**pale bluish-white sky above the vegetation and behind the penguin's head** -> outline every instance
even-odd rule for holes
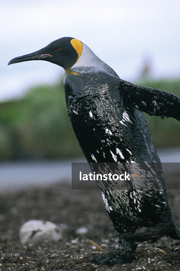
[[[7,63],[65,36],[85,43],[126,81],[137,80],[147,58],[153,77],[180,76],[179,0],[0,0],[0,31],[1,101],[63,75],[45,61]]]

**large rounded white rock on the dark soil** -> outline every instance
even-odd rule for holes
[[[42,220],[30,220],[22,225],[19,231],[22,245],[38,242],[59,241],[62,239],[61,228],[54,223]]]

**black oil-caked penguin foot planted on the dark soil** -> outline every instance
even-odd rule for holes
[[[115,251],[106,251],[93,258],[96,264],[106,264],[113,266],[116,264],[130,263],[133,259],[133,254],[137,248],[137,244],[133,241],[119,240],[120,247]]]

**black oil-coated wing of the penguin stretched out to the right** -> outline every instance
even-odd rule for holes
[[[180,121],[180,98],[173,93],[137,86],[123,80],[119,81],[119,87],[125,105],[149,115],[173,117]]]

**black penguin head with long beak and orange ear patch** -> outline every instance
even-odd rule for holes
[[[45,60],[69,70],[79,59],[82,52],[81,41],[75,38],[59,38],[34,53],[15,57],[8,65],[30,60]]]

